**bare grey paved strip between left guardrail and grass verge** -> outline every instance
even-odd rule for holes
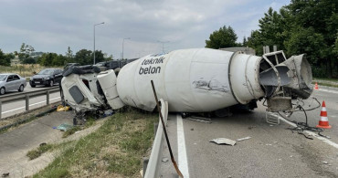
[[[53,129],[62,123],[72,124],[73,112],[52,112],[15,130],[0,134],[0,174],[26,177],[45,168],[55,156],[45,153],[35,160],[26,157],[40,143],[61,141],[63,131]]]

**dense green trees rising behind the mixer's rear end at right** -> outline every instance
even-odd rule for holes
[[[243,43],[231,26],[223,26],[206,40],[206,47],[253,47],[262,55],[263,47],[276,45],[286,56],[305,54],[314,77],[338,78],[338,1],[291,0],[290,5],[268,12],[259,19]]]

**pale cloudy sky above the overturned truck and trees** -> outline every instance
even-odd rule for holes
[[[259,28],[272,7],[290,0],[0,0],[0,49],[75,54],[95,49],[113,58],[140,58],[175,49],[205,47],[221,26],[238,42]],[[104,24],[95,26],[96,24]],[[124,39],[124,40],[123,40]],[[124,43],[123,43],[124,41]]]

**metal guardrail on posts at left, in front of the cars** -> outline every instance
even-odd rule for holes
[[[2,105],[6,102],[16,101],[16,100],[26,100],[26,110],[29,110],[29,98],[46,95],[47,104],[49,104],[49,94],[52,92],[59,91],[58,87],[53,87],[49,89],[41,89],[37,91],[28,91],[20,94],[12,94],[8,96],[0,97],[0,120],[2,119]]]

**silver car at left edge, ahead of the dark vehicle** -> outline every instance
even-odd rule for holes
[[[14,73],[0,74],[0,95],[10,90],[24,91],[26,79]]]

